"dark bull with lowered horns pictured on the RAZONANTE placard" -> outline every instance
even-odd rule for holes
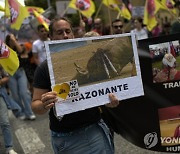
[[[87,62],[86,68],[74,63],[78,84],[87,84],[120,76],[121,70],[133,60],[130,37],[114,38],[98,48]]]

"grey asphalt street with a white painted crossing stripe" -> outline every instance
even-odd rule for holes
[[[18,154],[52,154],[48,114],[37,116],[35,121],[19,120],[9,112],[14,135],[14,149]],[[141,149],[115,134],[115,154],[162,154]],[[5,154],[5,148],[0,132],[0,154]],[[165,153],[163,153],[165,154]]]

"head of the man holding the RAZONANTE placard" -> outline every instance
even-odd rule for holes
[[[49,25],[49,36],[51,40],[73,39],[71,23],[64,17],[56,17]]]

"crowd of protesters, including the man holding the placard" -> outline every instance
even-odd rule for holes
[[[157,29],[150,33],[140,17],[133,20],[133,24],[134,27],[130,31],[136,34],[137,40],[150,36],[167,35],[171,30],[169,28],[167,32],[166,25],[164,25],[164,28],[156,27]],[[51,139],[55,154],[86,153],[87,151],[93,154],[113,154],[112,131],[109,131],[101,118],[99,107],[65,115],[61,120],[54,115],[53,106],[57,101],[57,94],[51,91],[44,41],[123,34],[127,32],[124,22],[115,19],[107,29],[103,26],[102,19],[96,18],[92,28],[87,32],[85,23],[80,21],[80,27],[73,33],[69,20],[55,18],[51,21],[49,32],[43,25],[38,25],[37,32],[39,39],[32,44],[20,44],[13,34],[8,34],[5,39],[5,43],[17,52],[20,61],[20,66],[13,76],[9,76],[2,68],[0,70],[0,119],[2,119],[0,126],[7,154],[17,154],[13,150],[8,109],[11,109],[19,120],[35,120],[35,114],[49,112]],[[113,94],[109,95],[109,100],[107,107],[119,105],[119,101]],[[83,140],[85,136],[88,137],[88,143]],[[59,148],[64,140],[68,141],[69,146]]]

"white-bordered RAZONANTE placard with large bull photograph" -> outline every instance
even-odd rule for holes
[[[70,102],[80,107],[73,110],[103,105],[109,101],[109,93],[121,99],[144,94],[133,33],[46,41],[45,47],[52,89],[77,80],[79,95]],[[63,111],[71,112],[69,108]]]

